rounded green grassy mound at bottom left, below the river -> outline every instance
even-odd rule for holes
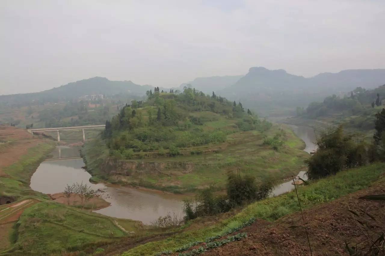
[[[126,235],[110,218],[53,202],[38,203],[26,209],[16,226],[15,245],[37,254],[73,251]]]

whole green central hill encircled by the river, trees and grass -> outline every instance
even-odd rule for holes
[[[268,137],[281,146],[266,145]],[[213,182],[223,187],[227,171],[259,181],[296,175],[308,156],[301,147],[290,130],[241,103],[185,88],[132,101],[107,122],[101,138],[86,143],[83,155],[95,179],[186,192]]]

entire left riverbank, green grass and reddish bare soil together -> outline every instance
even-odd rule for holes
[[[0,205],[0,254],[61,254],[168,232],[57,203],[32,190],[30,178],[47,156],[54,155],[54,143],[10,126],[0,126],[0,138],[0,203],[7,203]],[[55,186],[52,181],[47,184]]]

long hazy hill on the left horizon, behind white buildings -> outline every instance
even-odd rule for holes
[[[47,103],[74,100],[84,95],[102,94],[106,96],[129,94],[142,96],[152,86],[137,85],[132,81],[110,81],[104,77],[94,77],[68,83],[37,93],[23,93],[14,95],[1,95],[0,101],[6,105]]]

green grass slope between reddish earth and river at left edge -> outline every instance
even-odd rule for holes
[[[15,198],[25,195],[43,196],[43,194],[30,189],[30,178],[37,166],[53,149],[53,144],[40,143],[29,148],[27,153],[16,163],[3,168],[7,176],[0,177],[0,195],[12,195]]]

